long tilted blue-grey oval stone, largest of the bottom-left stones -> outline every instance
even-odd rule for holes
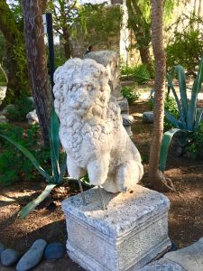
[[[47,242],[43,239],[36,240],[32,247],[23,255],[16,266],[17,271],[27,271],[37,266],[43,257]]]

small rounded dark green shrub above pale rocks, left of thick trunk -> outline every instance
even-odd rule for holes
[[[26,119],[26,115],[34,109],[34,105],[30,98],[20,98],[14,103],[14,107],[7,109],[7,117],[13,121],[22,121]]]

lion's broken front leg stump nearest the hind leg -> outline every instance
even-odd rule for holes
[[[96,160],[88,163],[88,177],[93,185],[102,185],[107,178],[110,154],[101,154]]]

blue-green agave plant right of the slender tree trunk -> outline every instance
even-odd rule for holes
[[[176,93],[176,90],[173,85],[173,76],[177,74],[180,88],[180,99]],[[160,170],[164,172],[169,146],[171,143],[171,138],[180,130],[185,130],[189,132],[195,132],[198,130],[199,123],[201,122],[201,117],[203,114],[203,107],[197,109],[198,93],[201,89],[203,82],[203,56],[199,63],[198,75],[194,80],[192,89],[191,89],[191,98],[188,101],[187,97],[187,86],[186,86],[186,76],[185,71],[182,66],[177,65],[175,67],[173,76],[167,74],[168,80],[168,92],[171,90],[173,96],[176,100],[178,109],[179,109],[179,119],[171,115],[167,110],[164,110],[165,117],[175,126],[175,129],[172,129],[162,136],[161,142],[161,153],[160,153]]]

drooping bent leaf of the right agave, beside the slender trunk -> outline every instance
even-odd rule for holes
[[[169,146],[171,144],[172,136],[175,135],[180,129],[171,129],[162,136],[161,151],[160,151],[160,170],[164,173],[166,167],[166,160],[168,157]]]

